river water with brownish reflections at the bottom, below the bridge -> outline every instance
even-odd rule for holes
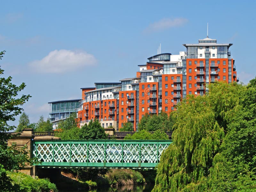
[[[89,192],[150,192],[154,184],[145,185],[124,185],[116,188],[99,188]]]

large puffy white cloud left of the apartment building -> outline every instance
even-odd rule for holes
[[[85,51],[54,50],[41,60],[33,61],[28,65],[38,73],[66,73],[96,63],[94,56]]]

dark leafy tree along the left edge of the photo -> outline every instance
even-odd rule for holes
[[[0,52],[2,59],[4,51]],[[3,75],[4,70],[0,68],[0,75]],[[6,175],[5,170],[17,170],[24,166],[24,162],[29,162],[26,149],[16,148],[15,145],[7,147],[6,139],[11,137],[11,134],[6,134],[15,126],[8,125],[8,121],[14,121],[15,117],[22,111],[22,106],[28,101],[30,95],[18,96],[19,92],[25,88],[25,83],[20,86],[12,84],[12,77],[0,78],[0,189],[2,191],[10,191],[12,186],[10,179]]]

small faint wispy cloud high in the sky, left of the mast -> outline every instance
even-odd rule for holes
[[[161,31],[172,27],[181,27],[188,22],[186,18],[164,18],[155,23],[150,24],[146,29],[145,32],[151,31]]]

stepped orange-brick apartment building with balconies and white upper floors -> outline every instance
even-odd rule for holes
[[[134,78],[82,88],[80,126],[98,119],[102,127],[113,126],[117,130],[131,122],[136,131],[146,113],[175,110],[187,95],[208,92],[206,84],[238,82],[231,45],[207,36],[198,43],[183,44],[186,50],[179,55],[162,53],[149,57],[145,65],[139,65]]]

